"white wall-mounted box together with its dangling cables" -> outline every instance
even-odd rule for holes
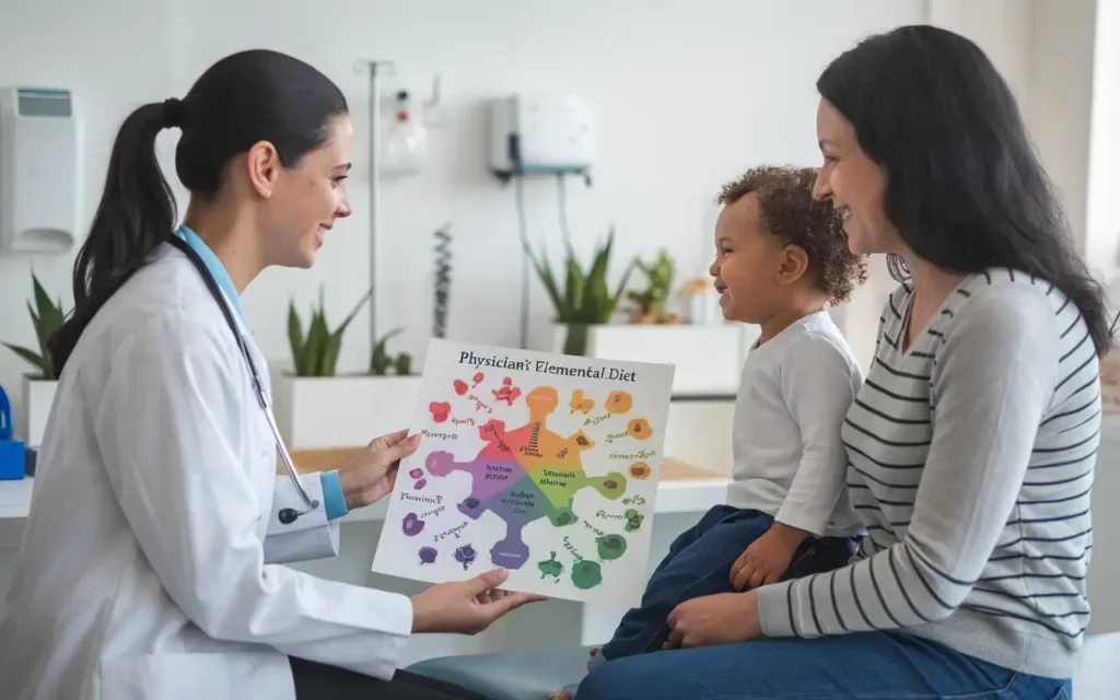
[[[529,346],[532,265],[522,179],[550,176],[557,180],[560,230],[568,231],[566,178],[577,176],[591,186],[595,124],[590,105],[575,95],[512,94],[489,102],[487,160],[502,183],[512,180],[521,237],[521,347]]]

